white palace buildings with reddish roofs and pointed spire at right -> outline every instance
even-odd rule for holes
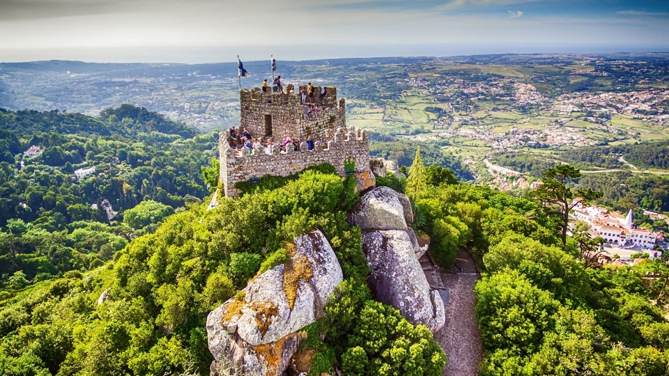
[[[607,243],[626,249],[654,249],[661,233],[648,228],[635,228],[632,210],[626,216],[596,205],[576,205],[571,217],[590,225],[592,235],[602,237]]]

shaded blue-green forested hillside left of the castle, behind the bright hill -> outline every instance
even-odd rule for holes
[[[209,194],[201,166],[216,141],[128,104],[98,118],[0,110],[0,284],[17,273],[40,281],[98,267],[175,209],[201,201]],[[24,155],[31,146],[43,152]],[[95,173],[75,178],[92,166]],[[126,212],[143,214],[126,221]]]

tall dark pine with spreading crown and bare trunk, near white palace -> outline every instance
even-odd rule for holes
[[[569,212],[578,204],[601,197],[601,192],[592,189],[571,189],[568,185],[580,178],[580,171],[569,164],[555,166],[544,172],[544,184],[530,194],[539,202],[548,217],[557,219],[562,244],[567,244]]]

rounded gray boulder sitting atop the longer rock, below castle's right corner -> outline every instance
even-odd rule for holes
[[[398,195],[388,187],[367,192],[348,213],[348,223],[362,230],[406,230],[404,207]]]

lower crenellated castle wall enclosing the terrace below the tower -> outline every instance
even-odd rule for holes
[[[314,150],[308,150],[306,143],[300,145],[300,151],[287,148],[279,152],[275,146],[268,153],[266,150],[256,151],[249,155],[247,148],[234,150],[230,148],[222,132],[219,139],[220,150],[220,182],[222,194],[237,198],[239,191],[234,188],[237,182],[259,179],[265,175],[288,176],[306,169],[309,166],[329,163],[337,169],[339,176],[346,175],[344,160],[355,160],[356,173],[369,173],[369,143],[367,132],[355,128],[341,128],[330,134],[330,141],[316,141]]]

